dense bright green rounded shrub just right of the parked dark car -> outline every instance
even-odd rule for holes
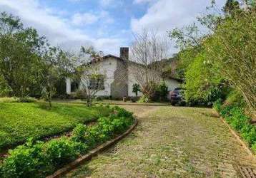
[[[207,58],[207,48],[202,47],[187,66],[183,87],[186,88],[185,99],[191,105],[212,106],[217,99],[224,99],[227,95],[225,78]]]

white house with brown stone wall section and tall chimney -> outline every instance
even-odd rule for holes
[[[134,68],[141,68],[139,63],[129,61],[129,48],[120,48],[120,56],[107,55],[97,62],[99,73],[106,76],[102,80],[102,90],[99,90],[97,96],[111,96],[112,98],[135,97],[132,92],[136,80],[136,71]],[[172,91],[174,88],[179,87],[181,81],[175,78],[162,78],[168,86],[168,90]],[[91,84],[90,84],[91,85]],[[71,95],[75,92],[76,87],[70,78],[67,78],[67,94]],[[142,93],[138,93],[139,96]]]

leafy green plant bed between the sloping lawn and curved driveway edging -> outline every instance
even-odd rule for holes
[[[70,138],[61,137],[49,142],[29,140],[9,151],[9,157],[0,164],[0,177],[46,177],[79,155],[124,132],[134,122],[132,112],[117,107],[112,111],[109,117],[100,117],[97,125],[77,125]]]

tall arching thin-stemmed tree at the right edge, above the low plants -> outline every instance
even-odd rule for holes
[[[221,75],[239,90],[256,117],[256,11],[227,17],[207,43],[212,61]]]

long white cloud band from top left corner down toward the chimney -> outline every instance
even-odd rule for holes
[[[37,0],[1,0],[0,11],[7,11],[14,16],[19,16],[24,26],[36,28],[39,34],[46,36],[52,45],[62,46],[67,50],[77,50],[80,46],[94,45],[106,53],[116,53],[118,48],[113,49],[112,46],[119,46],[123,42],[119,38],[111,38],[111,36],[103,39],[93,38],[82,28],[72,26],[69,19],[56,14],[57,9],[41,6]],[[102,12],[100,16],[103,18],[107,14]],[[87,16],[87,20],[89,18],[91,18],[90,23],[97,20],[97,17],[94,16]],[[112,46],[109,46],[109,43]]]

